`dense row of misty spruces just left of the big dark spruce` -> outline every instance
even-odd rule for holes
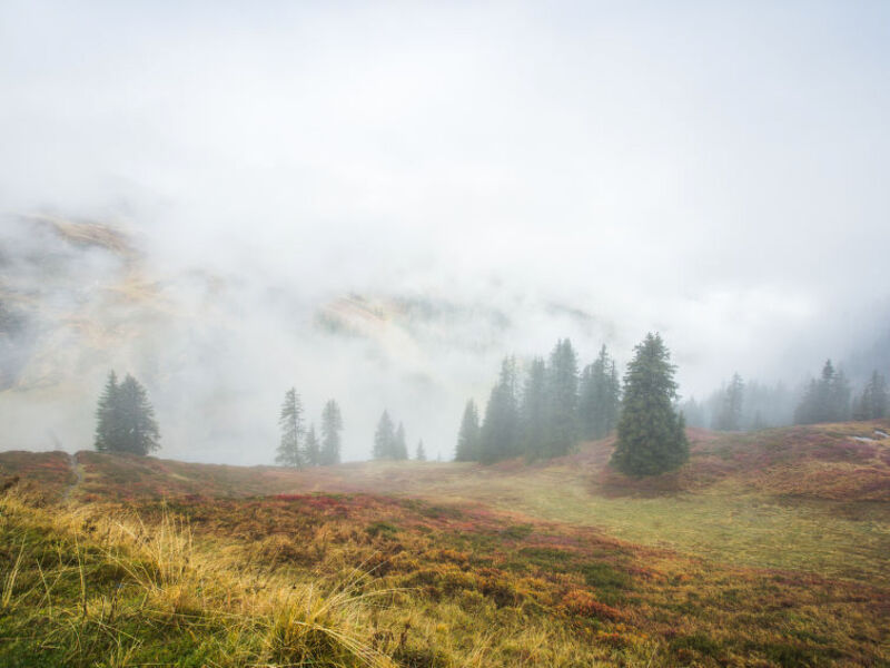
[[[471,400],[457,434],[457,461],[494,462],[566,454],[582,439],[597,439],[614,429],[621,383],[606,347],[578,374],[568,338],[560,340],[547,361],[534,357],[520,374],[516,358],[504,358],[485,415]]]

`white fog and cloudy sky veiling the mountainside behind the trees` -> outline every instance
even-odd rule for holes
[[[111,367],[145,380],[159,455],[268,463],[291,385],[316,424],[338,400],[347,460],[384,409],[449,458],[500,357],[561,336],[626,362],[657,330],[699,397],[854,356],[890,324],[889,26],[881,2],[3,2],[0,297],[38,324],[2,333],[0,449],[89,448]]]

